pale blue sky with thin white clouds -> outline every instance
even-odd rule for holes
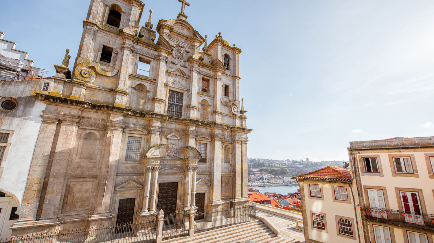
[[[34,66],[75,60],[90,0],[5,0],[0,31]],[[189,0],[202,36],[243,50],[248,157],[348,160],[349,141],[432,136],[434,1]],[[178,0],[145,0],[173,19]],[[217,3],[217,4],[216,4]]]

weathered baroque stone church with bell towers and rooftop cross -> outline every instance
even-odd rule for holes
[[[208,44],[179,1],[153,30],[141,1],[91,0],[74,67],[66,53],[35,92],[45,109],[13,235],[247,204],[241,49],[220,33]]]

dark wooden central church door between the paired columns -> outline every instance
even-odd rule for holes
[[[157,209],[161,209],[164,215],[168,216],[176,212],[176,201],[178,200],[178,182],[163,182],[158,188]]]

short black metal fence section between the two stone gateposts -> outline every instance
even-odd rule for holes
[[[163,240],[188,235],[190,214],[187,211],[164,216]]]

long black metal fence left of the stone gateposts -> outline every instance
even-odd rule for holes
[[[156,241],[156,237],[157,220],[153,218],[141,223],[96,227],[87,230],[61,230],[58,233],[12,236],[11,239],[0,240],[0,243],[151,243]]]

